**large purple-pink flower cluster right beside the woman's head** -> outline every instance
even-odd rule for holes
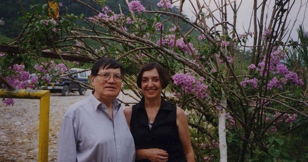
[[[196,79],[191,74],[176,74],[172,77],[175,85],[181,86],[181,88],[189,94],[196,94],[197,98],[208,98],[207,88],[208,85],[203,84],[204,78]]]

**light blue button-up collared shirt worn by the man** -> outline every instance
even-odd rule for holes
[[[74,103],[64,115],[59,132],[57,161],[132,162],[134,141],[123,106],[112,102],[113,120],[107,107],[92,93]]]

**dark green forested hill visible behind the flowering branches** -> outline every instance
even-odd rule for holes
[[[160,0],[140,0],[147,10],[156,9],[159,1]],[[89,8],[74,0],[63,0],[59,2],[62,2],[63,4],[60,12],[61,15],[66,13],[73,13],[75,15],[80,15],[83,13],[86,17],[93,15],[93,12]],[[101,7],[99,5],[95,5],[91,0],[84,0],[84,2],[91,4],[91,6],[96,6],[96,9],[101,10]],[[1,17],[4,17],[5,25],[0,26],[0,34],[9,38],[16,38],[22,31],[23,25],[25,24],[25,22],[18,19],[18,17],[23,16],[24,12],[29,12],[30,5],[34,5],[35,3],[43,4],[47,3],[47,0],[2,1],[0,3],[0,19]],[[127,14],[129,12],[125,0],[106,0],[104,5],[108,6],[115,13],[120,13],[120,7],[122,13]],[[177,13],[178,8],[172,8],[171,12]]]

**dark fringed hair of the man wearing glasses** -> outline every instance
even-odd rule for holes
[[[120,64],[117,60],[112,58],[102,58],[97,60],[91,69],[91,75],[97,76],[100,69],[108,69],[108,68],[120,68],[121,75],[124,77],[125,71],[122,64]]]

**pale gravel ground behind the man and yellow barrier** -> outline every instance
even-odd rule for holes
[[[70,93],[66,97],[61,94],[50,94],[48,161],[56,161],[58,132],[68,106],[88,97],[90,92],[88,90],[85,96]],[[132,94],[129,91],[125,93]],[[134,102],[123,94],[119,95],[119,99],[124,102]],[[14,101],[13,106],[4,105],[2,99],[0,101],[0,162],[35,162],[38,158],[40,100],[14,99]]]

